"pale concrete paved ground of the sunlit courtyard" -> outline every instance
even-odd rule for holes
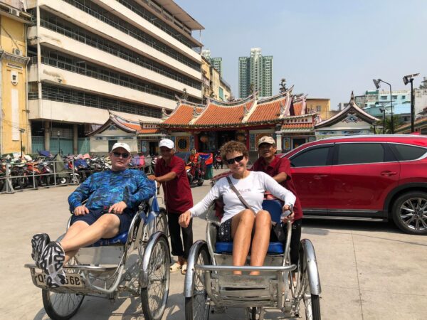
[[[68,194],[75,186],[0,195],[0,319],[48,319],[40,289],[24,263],[30,240],[47,232],[56,238],[68,220]],[[209,184],[194,188],[194,201]],[[203,239],[204,220],[194,220],[194,238]],[[305,220],[302,237],[315,245],[322,283],[323,319],[426,319],[427,237],[402,234],[387,223]],[[184,276],[172,274],[164,319],[184,319]],[[210,319],[244,319],[241,309]],[[266,319],[280,319],[271,312]],[[75,319],[143,319],[139,299],[114,304],[85,299]]]

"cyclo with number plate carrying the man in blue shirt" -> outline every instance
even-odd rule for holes
[[[145,319],[162,319],[169,294],[170,254],[166,211],[159,208],[156,195],[139,206],[127,232],[81,248],[63,266],[65,285],[51,289],[35,264],[25,265],[33,284],[42,289],[43,306],[51,319],[70,319],[86,296],[114,301],[124,292],[141,297]]]

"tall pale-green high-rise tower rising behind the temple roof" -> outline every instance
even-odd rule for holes
[[[246,98],[258,91],[261,97],[273,95],[273,56],[263,56],[261,48],[251,48],[250,57],[238,58],[238,94]]]

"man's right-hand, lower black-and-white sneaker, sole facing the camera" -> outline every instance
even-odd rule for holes
[[[65,252],[59,242],[50,242],[41,254],[40,267],[47,275],[48,287],[58,288],[65,284],[64,260]]]

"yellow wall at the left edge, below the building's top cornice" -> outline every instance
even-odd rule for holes
[[[4,50],[1,58],[1,151],[21,151],[21,134],[19,129],[25,129],[22,134],[24,151],[28,151],[28,114],[26,112],[26,26],[6,16],[0,16],[0,48]],[[22,57],[15,55],[14,49],[19,49]],[[9,53],[9,54],[8,54]],[[19,58],[16,58],[19,57]],[[12,81],[12,75],[16,78]]]

